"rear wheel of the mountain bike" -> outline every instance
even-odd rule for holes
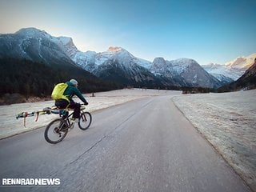
[[[56,144],[66,137],[68,132],[68,124],[62,118],[55,119],[46,126],[45,139],[46,142]]]

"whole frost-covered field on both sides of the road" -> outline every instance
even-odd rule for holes
[[[196,129],[222,154],[234,170],[256,191],[256,90],[225,94],[189,94],[171,90],[114,90],[86,94],[86,110],[92,112],[144,97],[171,95],[174,103]],[[77,100],[79,101],[79,100]],[[46,126],[56,114],[16,120],[22,111],[37,111],[54,105],[54,101],[27,102],[0,106],[0,138]]]

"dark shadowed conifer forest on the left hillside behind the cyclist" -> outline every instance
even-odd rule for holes
[[[25,97],[50,97],[55,84],[67,82],[71,78],[78,80],[82,93],[119,88],[76,66],[57,68],[26,59],[1,58],[0,74],[1,95],[18,93]]]

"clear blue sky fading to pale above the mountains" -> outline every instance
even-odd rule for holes
[[[35,27],[78,50],[224,64],[256,52],[255,0],[0,0],[0,34]]]

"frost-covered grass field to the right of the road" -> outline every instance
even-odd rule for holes
[[[256,191],[256,90],[182,95],[173,101]]]

